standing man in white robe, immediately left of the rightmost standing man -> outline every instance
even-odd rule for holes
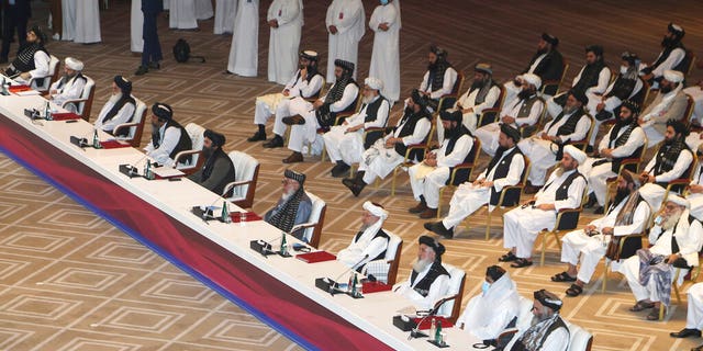
[[[359,41],[366,31],[366,13],[361,0],[333,0],[327,8],[328,33],[327,83],[334,83],[334,60],[357,64]],[[356,71],[354,72],[356,79]]]

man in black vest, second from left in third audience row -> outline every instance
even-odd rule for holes
[[[594,94],[602,94],[611,82],[611,70],[603,60],[603,47],[591,45],[585,47],[585,66],[573,78],[571,90],[583,93],[587,99]],[[568,93],[563,92],[547,101],[547,112],[550,116],[561,113],[567,102]]]

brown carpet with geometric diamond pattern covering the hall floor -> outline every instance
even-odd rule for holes
[[[367,20],[373,1],[364,1]],[[263,1],[264,15],[270,1]],[[583,61],[583,47],[602,44],[606,61],[618,65],[618,54],[637,52],[645,60],[655,58],[669,21],[687,30],[684,43],[694,50],[703,45],[703,22],[699,1],[504,1],[476,0],[401,1],[401,83],[409,92],[417,86],[426,66],[429,43],[449,50],[455,67],[471,72],[481,60],[493,65],[498,80],[522,70],[535,50],[539,33],[549,31],[561,39],[560,49],[572,63],[567,81]],[[35,19],[46,23],[47,4],[34,1]],[[213,20],[201,21],[200,31],[169,31],[160,20],[159,32],[166,59],[163,68],[133,77],[138,57],[130,53],[129,1],[110,1],[101,11],[103,42],[79,45],[52,42],[48,49],[64,58],[86,63],[85,73],[97,81],[93,117],[107,101],[109,84],[116,73],[134,79],[134,93],[150,104],[169,103],[181,124],[194,122],[227,136],[226,150],[242,150],[257,157],[261,172],[254,205],[269,208],[278,197],[280,160],[287,149],[264,149],[246,143],[254,132],[252,117],[256,95],[280,90],[266,81],[268,31],[259,31],[259,77],[223,75],[231,36],[212,34]],[[326,66],[325,3],[305,2],[305,26],[301,48],[320,52]],[[186,38],[193,55],[205,64],[176,64],[170,47]],[[372,33],[359,45],[359,73],[368,72]],[[694,71],[691,81],[703,77]],[[393,110],[392,122],[400,110]],[[269,126],[270,128],[270,126]],[[145,131],[144,143],[149,135]],[[270,134],[269,134],[270,135]],[[488,158],[482,155],[481,161]],[[369,188],[361,197],[352,196],[337,179],[328,176],[330,163],[308,158],[293,166],[308,174],[306,186],[327,202],[327,217],[321,247],[332,252],[344,248],[360,225],[361,203],[382,203],[391,216],[386,228],[404,238],[399,280],[410,273],[416,239],[425,234],[423,222],[408,214],[414,204],[408,177],[400,176],[399,191],[390,196],[390,179],[378,190]],[[449,194],[444,204],[448,204]],[[446,205],[445,205],[446,208]],[[581,224],[594,218],[585,213]],[[495,220],[496,222],[496,220]],[[495,223],[494,222],[494,223]],[[484,211],[470,217],[470,228],[454,240],[445,240],[444,260],[468,273],[465,296],[480,292],[487,265],[504,252],[501,227],[493,226],[483,240]],[[563,296],[567,287],[549,276],[560,272],[558,245],[549,242],[545,267],[509,269],[524,296],[542,287]],[[609,292],[600,292],[602,267],[583,296],[566,298],[562,315],[594,335],[593,350],[688,350],[701,340],[674,340],[669,331],[683,327],[685,298],[673,305],[661,322],[648,322],[644,315],[627,310],[634,303],[625,283],[611,275]],[[465,299],[466,301],[466,299]],[[65,194],[43,182],[9,158],[0,157],[0,350],[290,350],[298,347],[215,292],[135,242],[121,230],[96,216]]]

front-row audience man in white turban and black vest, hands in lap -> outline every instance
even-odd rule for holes
[[[561,167],[551,172],[547,184],[535,197],[503,215],[503,247],[510,251],[499,261],[514,261],[513,268],[532,265],[532,249],[539,230],[553,228],[560,210],[581,205],[585,179],[577,168],[583,161],[583,151],[572,145],[565,146]]]

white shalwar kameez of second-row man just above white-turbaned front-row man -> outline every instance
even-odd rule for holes
[[[579,110],[577,110],[576,112],[578,111]],[[561,117],[559,122],[548,124],[547,126],[545,126],[545,129],[542,131],[542,133],[546,133],[549,136],[557,136],[557,131],[559,131],[559,127],[561,127],[561,125],[563,125],[567,122],[567,120],[569,120],[569,116],[570,115],[563,115],[563,117]],[[576,128],[573,133],[568,135],[561,135],[559,136],[559,138],[562,141],[582,140],[585,138],[587,134],[589,133],[590,126],[591,126],[591,118],[588,118],[585,115],[582,115],[579,118],[579,122],[576,124]],[[520,147],[523,154],[527,156],[529,160],[532,160],[532,168],[529,169],[528,179],[529,179],[529,182],[535,186],[539,186],[545,183],[545,176],[547,174],[547,170],[557,162],[557,159],[556,159],[556,154],[558,150],[557,145],[549,140],[544,140],[539,138],[542,133],[537,133],[537,135],[527,139],[523,139],[517,144],[517,147]]]

